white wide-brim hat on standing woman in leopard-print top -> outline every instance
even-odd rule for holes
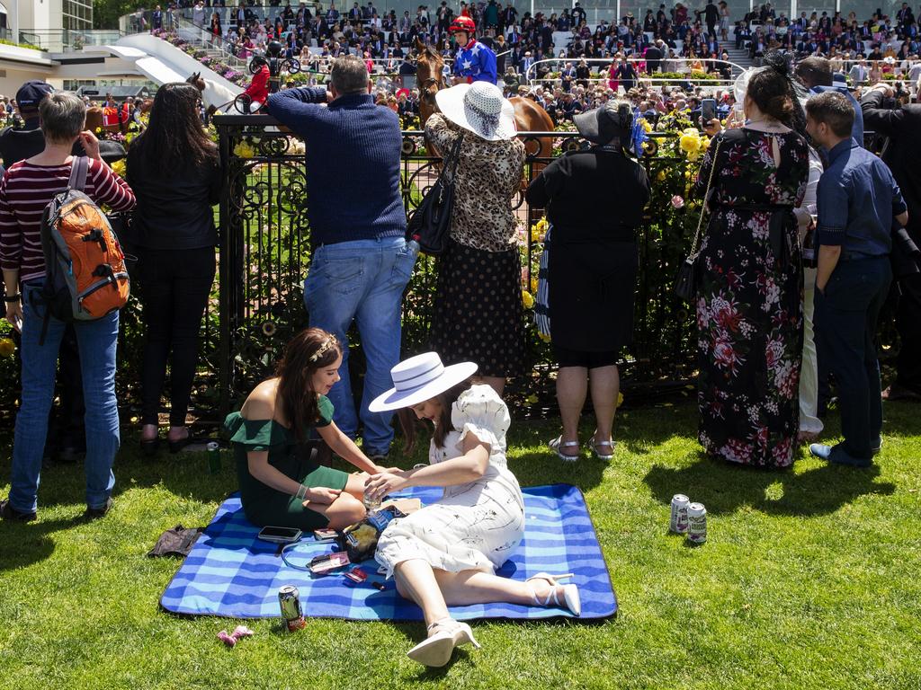
[[[435,94],[435,102],[446,118],[487,142],[518,134],[515,109],[495,84],[473,82],[443,88]]]

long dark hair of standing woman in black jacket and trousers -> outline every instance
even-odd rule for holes
[[[191,84],[160,86],[147,129],[131,144],[146,172],[166,177],[192,166],[216,164],[217,146],[199,116],[201,99],[201,91]]]

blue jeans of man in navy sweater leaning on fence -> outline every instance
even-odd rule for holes
[[[402,237],[324,245],[313,253],[304,281],[310,326],[329,331],[343,344],[341,380],[329,397],[336,426],[350,438],[356,436],[359,415],[349,381],[345,334],[353,320],[358,324],[367,360],[360,411],[366,454],[386,454],[393,440],[392,413],[371,413],[367,406],[393,385],[391,368],[400,361],[402,293],[416,254]]]

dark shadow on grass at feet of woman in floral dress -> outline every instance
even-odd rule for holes
[[[734,466],[701,451],[698,461],[690,466],[652,466],[643,481],[662,503],[683,493],[704,503],[711,514],[736,512],[748,506],[769,514],[802,517],[835,512],[859,496],[892,494],[895,485],[877,482],[879,476],[876,466],[857,469],[824,465],[800,474],[789,469]]]

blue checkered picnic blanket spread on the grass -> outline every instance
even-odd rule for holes
[[[524,580],[535,573],[575,573],[582,600],[582,620],[606,618],[617,612],[608,568],[582,492],[567,484],[522,489],[525,535],[498,575]],[[412,489],[400,494],[423,504],[437,500],[441,489]],[[397,593],[393,581],[383,591],[370,581],[383,581],[378,564],[367,560],[360,568],[368,582],[352,585],[342,571],[315,576],[286,566],[274,544],[260,541],[259,528],[250,523],[234,494],[217,509],[215,519],[192,547],[179,572],[169,582],[160,605],[167,611],[232,618],[268,618],[280,615],[278,589],[286,584],[300,591],[304,615],[356,620],[421,620],[421,609]],[[335,550],[312,535],[286,552],[296,565]],[[541,619],[571,614],[563,608],[476,604],[452,606],[459,620],[472,618]]]

